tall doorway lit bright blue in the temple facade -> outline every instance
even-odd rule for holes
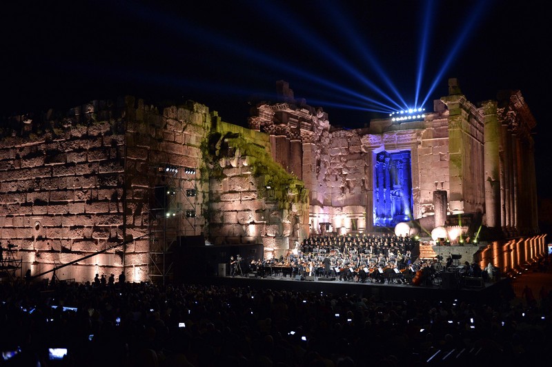
[[[375,227],[394,228],[411,219],[411,152],[378,152],[373,170],[373,218]]]

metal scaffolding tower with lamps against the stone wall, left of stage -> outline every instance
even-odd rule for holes
[[[172,250],[180,237],[199,235],[196,169],[153,166],[150,175],[148,279],[166,284],[172,279]]]

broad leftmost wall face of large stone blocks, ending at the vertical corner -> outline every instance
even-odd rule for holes
[[[124,239],[124,103],[92,102],[68,115],[14,117],[0,140],[0,238],[32,275]],[[103,119],[107,117],[107,119]],[[121,248],[57,271],[92,280],[123,264]],[[52,274],[48,275],[50,278]]]

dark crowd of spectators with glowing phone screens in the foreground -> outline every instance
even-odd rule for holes
[[[549,271],[550,268],[546,268]],[[204,284],[0,287],[0,364],[13,366],[425,366],[538,361],[552,299],[401,302]],[[66,348],[51,360],[48,348]],[[13,355],[12,357],[9,357]],[[433,356],[433,358],[432,358]]]

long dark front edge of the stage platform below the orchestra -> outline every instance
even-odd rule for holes
[[[279,275],[254,277],[250,275],[236,277],[204,277],[197,279],[202,284],[216,286],[252,287],[255,289],[288,290],[295,292],[324,292],[332,295],[358,295],[378,301],[405,301],[411,299],[440,299],[443,301],[466,300],[470,303],[482,302],[491,304],[511,295],[511,279],[502,278],[494,281],[483,279],[466,279],[455,282],[447,279],[433,279],[424,285],[360,283],[356,281],[339,281],[339,279],[315,277],[312,280],[299,280]]]

